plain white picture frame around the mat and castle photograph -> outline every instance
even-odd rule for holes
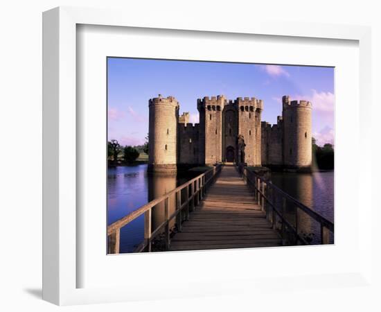
[[[360,123],[358,132],[358,148],[362,150],[361,159],[371,158],[371,136],[366,121],[371,116],[371,31],[364,26],[333,26],[308,23],[276,23],[261,21],[245,21],[226,24],[217,17],[211,21],[190,21],[188,19],[142,19],[130,12],[119,10],[99,10],[85,8],[55,8],[44,12],[43,16],[43,298],[55,304],[85,304],[100,302],[119,302],[125,300],[143,300],[146,298],[171,298],[182,296],[184,285],[173,287],[163,284],[161,291],[157,285],[144,286],[137,282],[136,287],[127,286],[96,286],[78,287],[78,232],[81,224],[78,222],[77,178],[78,178],[78,148],[76,102],[76,63],[77,25],[122,26],[134,28],[154,28],[177,31],[206,31],[209,33],[229,33],[230,35],[255,34],[283,37],[308,37],[331,40],[354,40],[359,44],[359,105]],[[358,104],[357,103],[357,104]],[[359,160],[361,160],[359,159]],[[371,163],[362,162],[362,170],[356,173],[359,180],[371,181]],[[358,184],[359,198],[366,194],[367,184]],[[321,276],[287,276],[278,275],[283,287],[296,281],[303,281],[308,288],[326,287],[326,281],[331,286],[346,286],[351,281],[356,286],[369,286],[371,280],[371,225],[366,216],[371,214],[371,198],[362,196],[362,211],[358,218],[358,244],[361,254],[356,266],[348,272],[321,272]],[[359,202],[356,205],[360,205]],[[366,239],[364,239],[366,238]],[[234,251],[227,251],[233,254]],[[267,250],[267,252],[272,252]],[[210,253],[218,257],[216,252]],[[186,253],[190,257],[190,253]],[[246,253],[250,257],[249,253]],[[184,255],[184,254],[183,254]],[[122,256],[123,257],[123,256]],[[174,257],[168,254],[168,257]],[[177,256],[179,259],[180,256]],[[181,261],[186,261],[186,257]],[[141,259],[139,259],[141,260]],[[129,261],[125,258],[124,261]],[[323,275],[324,274],[324,275]],[[134,277],[136,278],[136,277]],[[266,279],[252,276],[247,279],[220,279],[209,282],[190,282],[192,287],[187,295],[215,295],[231,292],[244,292],[266,288],[276,291],[279,286],[272,286],[274,277]],[[178,289],[176,289],[178,288]]]

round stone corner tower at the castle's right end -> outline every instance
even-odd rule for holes
[[[312,104],[283,96],[283,163],[310,170],[312,164]]]

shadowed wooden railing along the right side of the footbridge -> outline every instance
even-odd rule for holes
[[[269,182],[269,180],[248,170],[244,166],[239,166],[238,171],[242,174],[249,189],[254,193],[254,200],[256,200],[261,209],[266,212],[266,218],[272,223],[273,229],[278,230],[281,234],[283,245],[310,244],[311,240],[303,236],[300,231],[300,211],[303,211],[308,218],[319,223],[320,239],[317,240],[317,242],[321,244],[330,243],[330,233],[334,233],[334,225],[330,220],[327,220],[316,211],[303,205],[299,200],[288,195],[272,184],[272,182]],[[287,220],[285,213],[287,205],[295,207],[293,223],[290,219]]]

